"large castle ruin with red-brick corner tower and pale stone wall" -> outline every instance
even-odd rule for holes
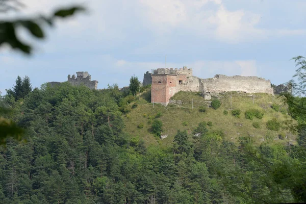
[[[192,69],[159,68],[153,74],[144,74],[143,84],[151,81],[151,103],[167,106],[169,99],[179,91],[221,93],[241,91],[245,93],[268,93],[273,95],[270,80],[216,74],[212,79],[200,79],[192,75]]]

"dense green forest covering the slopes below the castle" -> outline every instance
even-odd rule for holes
[[[188,123],[178,124],[162,145],[157,136],[167,128],[160,122],[164,113],[149,126],[148,115],[133,115],[145,103],[117,86],[89,90],[68,83],[44,85],[18,99],[10,92],[1,97],[26,140],[0,146],[1,203],[305,201],[302,145],[253,145],[248,135],[231,141],[210,130],[208,121],[187,131]],[[135,128],[145,125],[159,142],[134,134],[128,117],[142,120]]]

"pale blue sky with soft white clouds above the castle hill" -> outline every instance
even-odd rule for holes
[[[151,69],[187,66],[199,78],[215,74],[258,76],[282,84],[292,79],[293,57],[306,56],[305,0],[36,0],[1,19],[49,15],[83,5],[87,12],[44,26],[46,39],[18,35],[32,56],[0,47],[0,91],[18,75],[32,86],[67,81],[88,71],[98,88],[128,86]],[[165,65],[165,56],[167,64]]]

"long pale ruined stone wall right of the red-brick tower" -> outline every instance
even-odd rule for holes
[[[273,95],[270,80],[258,77],[242,77],[217,74],[213,79],[201,80],[205,92],[219,93],[243,91],[246,93],[269,93]]]

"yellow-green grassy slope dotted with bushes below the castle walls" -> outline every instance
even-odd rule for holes
[[[221,101],[221,106],[217,110],[209,107],[210,102],[204,100],[196,92],[179,92],[175,94],[172,99],[182,100],[181,106],[169,104],[167,107],[161,105],[154,105],[153,107],[152,104],[147,103],[144,99],[140,99],[136,102],[138,106],[124,117],[125,130],[132,136],[143,138],[147,144],[161,142],[167,145],[173,141],[177,130],[187,130],[191,135],[199,122],[211,121],[212,126],[207,126],[210,132],[221,130],[226,139],[234,142],[241,136],[252,137],[257,144],[262,142],[288,143],[288,141],[295,141],[295,135],[286,130],[285,125],[282,125],[279,131],[270,131],[266,126],[266,122],[272,118],[276,118],[282,124],[291,120],[287,114],[286,107],[281,102],[281,98],[274,96],[274,104],[280,106],[279,111],[271,108],[273,98],[269,94],[254,94],[252,96],[251,94],[232,92],[219,94],[218,98]],[[207,107],[206,112],[200,112],[200,107]],[[240,118],[232,116],[233,109],[241,110]],[[246,119],[245,111],[249,109],[263,111],[263,118]],[[224,110],[228,112],[227,115],[224,115]],[[157,115],[159,116],[158,119],[163,122],[162,135],[168,135],[164,140],[160,140],[151,133],[151,122]],[[253,127],[253,122],[258,122],[260,127],[257,129]],[[139,128],[142,125],[143,128]],[[280,138],[282,139],[278,139],[279,135],[281,135]]]

